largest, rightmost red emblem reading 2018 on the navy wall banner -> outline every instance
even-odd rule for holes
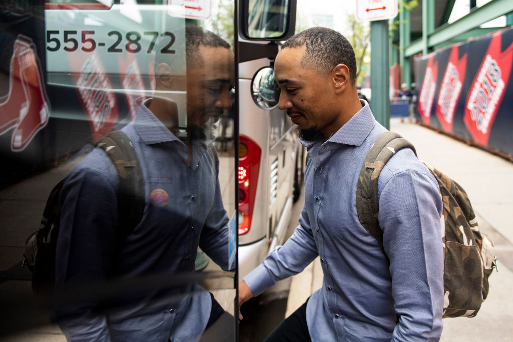
[[[494,34],[468,93],[463,122],[476,143],[486,145],[506,85],[513,44],[501,53],[502,32]]]

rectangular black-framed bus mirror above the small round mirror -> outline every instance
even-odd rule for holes
[[[294,34],[296,2],[240,0],[240,36],[249,41],[284,41]]]

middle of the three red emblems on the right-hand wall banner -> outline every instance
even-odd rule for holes
[[[458,59],[458,46],[453,46],[437,100],[437,118],[446,133],[452,132],[452,119],[465,81],[466,66],[467,54]]]

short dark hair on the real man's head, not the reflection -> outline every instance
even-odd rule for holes
[[[349,68],[349,79],[356,84],[356,58],[351,43],[337,31],[325,27],[312,27],[290,38],[283,48],[305,47],[303,66],[328,73],[339,64]]]

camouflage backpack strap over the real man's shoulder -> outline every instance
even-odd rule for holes
[[[362,226],[378,240],[383,249],[383,231],[378,222],[378,177],[386,162],[402,148],[410,148],[417,155],[415,147],[396,132],[384,132],[371,146],[360,170],[356,191],[356,208]]]

